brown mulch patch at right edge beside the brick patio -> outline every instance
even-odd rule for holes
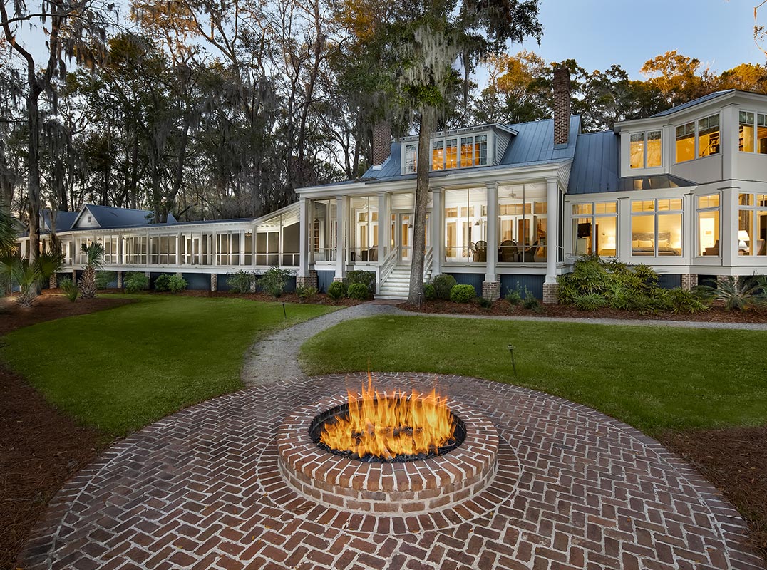
[[[709,479],[749,524],[767,558],[767,427],[662,433],[659,440]]]

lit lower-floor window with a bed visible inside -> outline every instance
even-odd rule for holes
[[[682,255],[682,199],[631,202],[631,255]]]

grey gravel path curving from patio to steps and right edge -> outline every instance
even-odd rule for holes
[[[447,317],[447,318],[480,318],[496,321],[529,321],[529,322],[561,322],[586,323],[588,325],[624,325],[637,327],[673,327],[673,328],[709,328],[721,330],[767,331],[765,323],[717,323],[700,321],[644,321],[618,318],[557,318],[557,317],[515,317],[499,315],[443,315],[432,313],[416,313],[403,311],[395,305],[371,301],[347,307],[304,321],[300,325],[285,328],[271,337],[253,344],[245,354],[245,363],[240,377],[247,387],[268,384],[269,382],[303,377],[304,373],[298,365],[298,352],[301,344],[344,321],[354,318],[374,317],[376,315],[400,315],[407,317]]]

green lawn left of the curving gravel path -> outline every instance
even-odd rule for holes
[[[107,311],[21,328],[0,357],[76,420],[120,437],[189,404],[238,390],[258,338],[330,308],[237,298],[135,295]]]

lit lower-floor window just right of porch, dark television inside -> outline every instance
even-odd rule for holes
[[[572,211],[574,255],[616,255],[617,203],[574,204]]]

